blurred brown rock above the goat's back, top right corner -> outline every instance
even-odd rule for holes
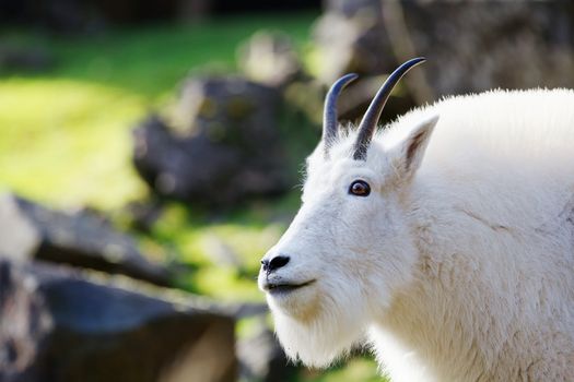
[[[436,97],[574,87],[570,1],[406,1],[402,12],[417,53],[429,58],[424,72]]]

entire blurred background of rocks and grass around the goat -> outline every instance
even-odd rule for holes
[[[383,121],[574,86],[570,1],[0,0],[0,381],[380,381],[286,361],[257,289],[323,97]]]

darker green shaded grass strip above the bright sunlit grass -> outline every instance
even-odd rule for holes
[[[256,31],[285,32],[303,48],[316,16],[227,16],[199,24],[139,26],[68,38],[5,31],[2,37],[4,44],[39,46],[54,52],[57,67],[49,73],[51,79],[97,82],[155,98],[171,92],[190,70],[234,70],[239,43]]]

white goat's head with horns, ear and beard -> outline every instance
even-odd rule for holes
[[[336,109],[356,75],[341,77],[327,94],[323,139],[307,158],[303,205],[259,273],[292,359],[329,365],[413,277],[418,251],[405,203],[437,117],[400,139],[373,135],[393,87],[423,61],[410,60],[388,77],[358,129],[339,131]]]

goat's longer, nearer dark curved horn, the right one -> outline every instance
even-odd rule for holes
[[[359,135],[356,136],[356,142],[354,145],[354,154],[353,154],[354,159],[356,160],[366,159],[366,151],[368,150],[368,145],[371,144],[371,140],[373,139],[373,134],[375,133],[375,130],[378,123],[378,119],[380,118],[383,108],[385,107],[385,104],[387,103],[387,99],[390,96],[393,88],[395,88],[395,85],[399,82],[399,80],[405,74],[407,74],[409,70],[411,70],[419,63],[424,62],[425,60],[426,60],[425,58],[419,57],[419,58],[413,58],[412,60],[405,62],[403,64],[398,67],[388,76],[387,81],[385,81],[383,86],[380,86],[377,94],[371,102],[368,109],[363,116],[361,123],[359,124]]]

